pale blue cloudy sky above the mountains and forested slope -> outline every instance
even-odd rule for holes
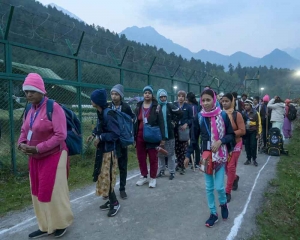
[[[300,47],[299,0],[39,0],[55,3],[88,24],[121,32],[152,26],[193,52],[201,49],[262,57]]]

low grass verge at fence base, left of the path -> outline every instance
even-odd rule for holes
[[[69,187],[74,190],[93,184],[94,148],[90,148],[83,159],[72,157],[70,164]],[[135,149],[129,147],[128,170],[138,167]],[[0,217],[10,211],[20,210],[31,205],[31,194],[28,173],[13,176],[8,172],[0,172]]]

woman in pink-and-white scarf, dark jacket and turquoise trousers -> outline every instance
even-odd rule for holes
[[[201,135],[201,151],[211,152],[212,173],[205,173],[205,186],[210,217],[206,221],[207,227],[212,227],[218,221],[215,206],[214,188],[219,195],[221,215],[223,220],[228,218],[227,199],[225,193],[225,165],[229,152],[235,145],[235,135],[226,112],[216,105],[217,98],[211,89],[202,92],[200,102],[202,110],[195,118],[192,128],[192,142]],[[190,145],[191,146],[191,145]],[[184,160],[188,165],[192,150],[189,148]]]

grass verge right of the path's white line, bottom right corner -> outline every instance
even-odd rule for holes
[[[281,156],[277,177],[269,182],[265,202],[257,216],[259,234],[251,239],[299,239],[300,236],[300,124],[288,145],[289,156]]]

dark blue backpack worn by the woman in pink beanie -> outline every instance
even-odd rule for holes
[[[49,121],[52,121],[53,105],[54,100],[48,99],[46,106],[47,117]],[[69,149],[69,156],[77,155],[82,152],[82,135],[81,135],[81,124],[76,114],[65,107],[62,104],[59,104],[65,112],[66,121],[67,121],[67,138],[65,140],[67,147]],[[31,104],[28,104],[25,109],[25,119],[27,113],[31,108]]]

